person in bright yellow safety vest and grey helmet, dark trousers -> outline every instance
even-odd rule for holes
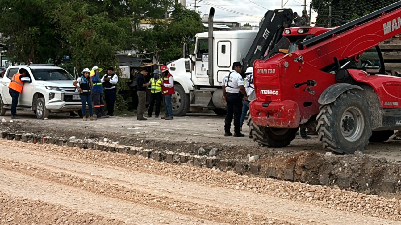
[[[160,78],[160,70],[154,70],[153,77],[150,79],[150,106],[148,110],[148,117],[152,117],[153,107],[156,102],[156,118],[160,114],[160,105],[162,104],[162,79]]]

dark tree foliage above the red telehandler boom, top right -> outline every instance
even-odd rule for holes
[[[332,7],[331,27],[365,16],[398,0],[312,0],[312,9],[318,12],[316,26],[328,27],[329,7]]]

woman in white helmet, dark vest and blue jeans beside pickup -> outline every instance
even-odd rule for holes
[[[79,77],[73,85],[78,88],[79,90],[79,97],[81,98],[82,102],[82,113],[85,114],[86,112],[86,103],[88,103],[89,108],[89,116],[90,120],[97,120],[93,117],[93,108],[92,108],[92,95],[91,89],[93,87],[92,79],[90,79],[91,71],[89,68],[85,68],[82,71],[82,76]],[[79,83],[79,86],[77,85]],[[88,120],[86,115],[83,116],[83,120]]]

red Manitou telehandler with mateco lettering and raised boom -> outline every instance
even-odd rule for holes
[[[308,29],[288,28],[284,36]],[[321,28],[327,29],[327,28]],[[387,141],[401,129],[401,78],[385,71],[379,43],[401,32],[401,1],[254,63],[248,125],[254,141],[284,147],[300,126],[337,153]]]

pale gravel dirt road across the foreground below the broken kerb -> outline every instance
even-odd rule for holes
[[[1,224],[399,224],[397,199],[0,139]]]

